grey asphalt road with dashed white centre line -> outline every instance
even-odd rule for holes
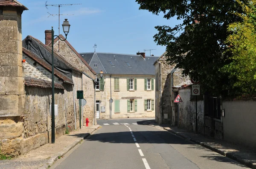
[[[246,166],[166,130],[149,119],[98,120],[102,128],[51,168],[241,169]],[[108,125],[104,125],[108,124]]]

